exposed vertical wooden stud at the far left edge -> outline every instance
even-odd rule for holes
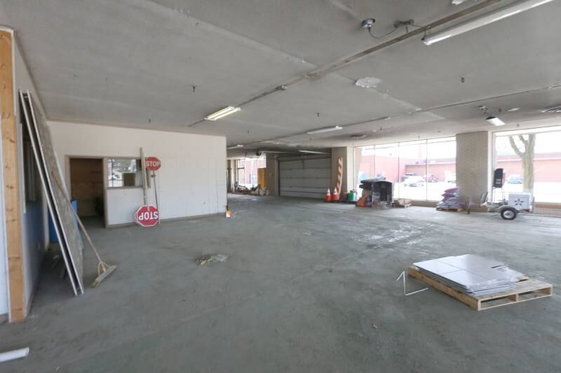
[[[0,86],[10,321],[21,321],[27,316],[27,307],[25,307],[22,258],[18,126],[15,118],[13,87],[13,32],[4,30],[0,30]]]

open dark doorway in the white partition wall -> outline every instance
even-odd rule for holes
[[[82,220],[105,226],[102,158],[70,158],[72,202]]]

